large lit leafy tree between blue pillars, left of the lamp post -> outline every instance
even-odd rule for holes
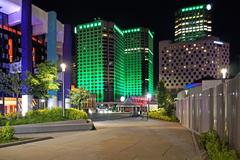
[[[49,91],[57,91],[59,83],[57,82],[57,66],[51,62],[44,62],[37,66],[38,72],[28,73],[26,83],[29,87],[29,94],[39,99],[50,97]],[[39,104],[39,103],[38,103]]]

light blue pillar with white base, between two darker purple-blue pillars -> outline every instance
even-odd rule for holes
[[[47,60],[57,64],[57,14],[54,11],[48,12],[48,34],[47,34]],[[48,108],[57,106],[57,93],[49,91]]]

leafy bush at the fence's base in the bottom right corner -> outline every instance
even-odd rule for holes
[[[200,142],[207,150],[211,160],[236,160],[237,154],[230,150],[225,141],[221,141],[217,132],[212,130],[200,135]]]

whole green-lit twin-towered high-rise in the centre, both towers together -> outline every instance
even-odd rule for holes
[[[122,31],[103,20],[77,25],[74,53],[73,83],[97,102],[153,92],[153,34],[147,28]]]

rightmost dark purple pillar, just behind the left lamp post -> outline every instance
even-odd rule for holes
[[[71,89],[71,62],[72,62],[72,26],[64,25],[64,42],[63,42],[63,59],[66,64],[64,73],[64,93],[65,93],[65,108],[70,108],[69,91]]]

